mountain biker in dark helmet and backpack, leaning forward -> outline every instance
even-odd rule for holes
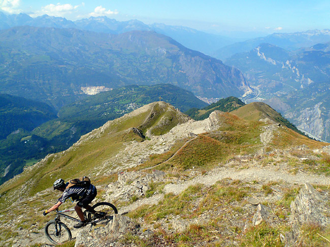
[[[75,228],[80,228],[86,225],[86,220],[81,208],[88,210],[89,212],[95,214],[95,210],[89,205],[89,203],[95,198],[97,191],[94,185],[90,184],[88,187],[83,187],[81,185],[74,185],[67,188],[68,183],[65,183],[63,179],[57,179],[54,184],[54,190],[62,191],[63,194],[53,207],[46,210],[43,215],[46,216],[49,212],[57,210],[59,206],[65,202],[69,197],[72,197],[73,200],[78,200],[78,203],[75,206],[76,213],[80,218],[80,222],[74,225]]]

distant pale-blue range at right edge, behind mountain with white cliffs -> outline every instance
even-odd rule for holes
[[[294,33],[273,33],[266,37],[259,37],[238,42],[233,45],[225,46],[216,51],[213,56],[225,60],[236,53],[248,52],[262,43],[269,43],[288,51],[300,49],[302,47],[310,47],[317,43],[325,43],[330,41],[330,30],[308,30],[305,32]]]

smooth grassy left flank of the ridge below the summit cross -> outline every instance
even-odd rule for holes
[[[7,182],[3,184],[0,193],[13,191],[31,180],[33,182],[31,182],[31,186],[27,188],[25,193],[32,196],[51,187],[55,178],[70,179],[89,174],[91,170],[99,167],[110,157],[115,156],[125,147],[124,143],[133,140],[144,141],[143,137],[130,128],[135,127],[147,131],[148,129],[157,129],[156,127],[159,125],[169,131],[173,128],[171,127],[173,121],[168,122],[168,116],[173,115],[172,112],[176,112],[173,106],[164,102],[156,102],[146,105],[139,111],[109,121],[104,127],[83,136],[80,142],[70,149],[51,154],[33,169],[27,169],[15,178],[14,183]],[[177,123],[182,121],[182,119],[176,120]],[[169,128],[166,128],[167,124],[170,124]],[[164,131],[161,133],[164,133]],[[154,132],[153,135],[155,134]],[[113,164],[113,166],[118,165]],[[108,165],[107,169],[111,169],[111,166]]]

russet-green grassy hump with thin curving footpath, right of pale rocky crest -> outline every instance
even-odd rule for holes
[[[218,133],[205,133],[185,145],[169,163],[180,170],[188,168],[212,169],[233,154],[253,152],[260,145],[259,121],[247,121],[230,113],[217,113],[222,127]]]

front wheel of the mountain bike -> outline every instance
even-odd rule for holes
[[[45,234],[54,244],[61,244],[72,238],[72,234],[68,226],[62,222],[56,223],[54,220],[46,224]]]

